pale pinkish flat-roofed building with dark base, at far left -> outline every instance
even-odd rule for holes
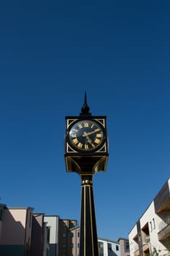
[[[33,208],[0,205],[0,255],[30,255],[32,219]]]

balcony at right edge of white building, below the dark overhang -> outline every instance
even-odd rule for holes
[[[170,237],[170,216],[167,216],[163,219],[163,221],[159,224],[159,233],[158,239],[159,241],[166,240],[166,238]]]

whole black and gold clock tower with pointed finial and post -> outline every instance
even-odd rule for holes
[[[84,105],[80,116],[66,116],[66,171],[82,181],[80,256],[98,256],[98,237],[93,200],[93,175],[105,171],[108,159],[106,116],[92,116]]]

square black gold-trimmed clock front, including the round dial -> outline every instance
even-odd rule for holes
[[[106,117],[66,117],[66,153],[107,153]]]

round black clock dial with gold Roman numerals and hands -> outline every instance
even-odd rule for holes
[[[69,131],[69,143],[77,151],[93,152],[104,143],[104,132],[96,121],[77,121]]]

